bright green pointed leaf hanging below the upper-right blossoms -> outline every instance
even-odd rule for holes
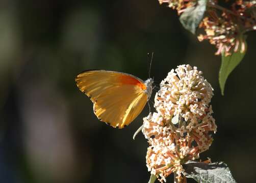
[[[239,49],[241,48],[241,43],[245,43],[245,51],[241,53],[240,51],[233,52],[229,56],[225,56],[224,52],[222,52],[221,56],[221,66],[220,66],[220,71],[219,71],[219,84],[220,84],[220,89],[221,89],[221,94],[224,95],[224,88],[225,88],[225,83],[228,75],[237,67],[237,65],[241,62],[243,59],[247,45],[243,37],[240,39],[240,46]]]

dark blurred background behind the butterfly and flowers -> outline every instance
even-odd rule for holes
[[[148,108],[125,129],[111,128],[97,120],[74,77],[105,69],[147,79],[152,51],[156,83],[190,64],[214,88],[218,131],[200,158],[224,161],[238,182],[255,182],[255,36],[248,34],[223,97],[214,46],[199,43],[157,0],[2,0],[0,182],[147,182],[147,141],[132,136]]]

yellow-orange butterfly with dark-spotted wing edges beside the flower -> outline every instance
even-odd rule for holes
[[[76,85],[93,102],[100,121],[124,128],[142,111],[152,94],[151,78],[146,81],[131,74],[87,70],[75,77]]]

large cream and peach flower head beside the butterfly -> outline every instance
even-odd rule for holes
[[[189,65],[171,70],[155,97],[156,112],[143,118],[142,132],[149,142],[146,163],[151,174],[166,181],[175,172],[182,182],[183,164],[207,150],[217,126],[209,104],[213,88],[202,72]]]

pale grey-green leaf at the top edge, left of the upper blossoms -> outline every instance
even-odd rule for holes
[[[182,25],[193,34],[203,18],[207,2],[208,0],[198,0],[194,7],[187,8],[180,17]]]

